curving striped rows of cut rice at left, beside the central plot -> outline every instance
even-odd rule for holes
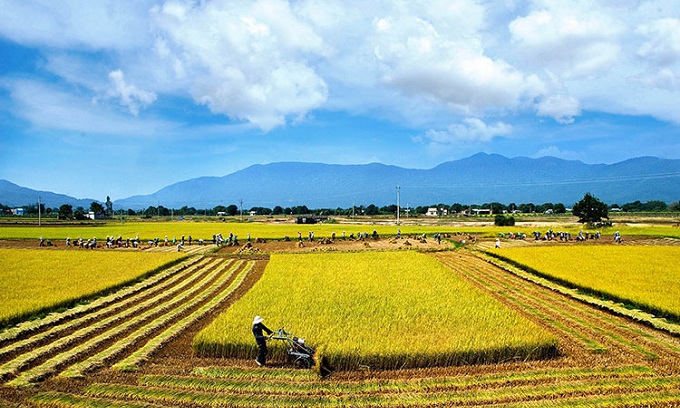
[[[135,371],[241,287],[253,261],[193,257],[89,303],[0,332],[0,381]],[[2,401],[0,401],[2,402]],[[1,404],[0,404],[1,405]]]

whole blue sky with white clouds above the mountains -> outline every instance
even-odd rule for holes
[[[676,0],[0,0],[0,178],[150,194],[279,161],[680,159]]]

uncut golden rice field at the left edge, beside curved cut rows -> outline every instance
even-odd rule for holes
[[[0,249],[0,326],[138,279],[176,252]]]

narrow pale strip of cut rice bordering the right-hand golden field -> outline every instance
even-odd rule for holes
[[[597,299],[594,296],[590,296],[584,293],[581,293],[578,289],[571,289],[568,288],[564,285],[561,285],[559,283],[556,283],[550,279],[546,279],[540,276],[537,276],[531,272],[528,272],[518,266],[513,265],[512,263],[508,262],[505,259],[499,258],[498,255],[496,254],[491,254],[488,252],[474,252],[474,254],[479,257],[480,259],[493,264],[507,272],[512,273],[513,275],[519,276],[520,278],[533,282],[535,284],[541,285],[543,287],[546,287],[550,290],[554,290],[556,292],[562,293],[564,295],[570,296],[574,299],[577,299],[581,302],[588,303],[590,305],[596,306],[600,309],[608,310],[614,314],[617,314],[619,316],[624,316],[630,319],[633,319],[637,322],[644,323],[647,326],[653,327],[658,330],[663,330],[669,334],[672,334],[673,336],[680,337],[680,325],[670,323],[668,322],[665,318],[662,317],[656,317],[651,313],[647,313],[645,311],[639,310],[639,309],[634,309],[630,310],[627,309],[623,304],[619,302],[615,302],[612,300],[601,300]]]

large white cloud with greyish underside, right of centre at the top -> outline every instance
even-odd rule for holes
[[[374,22],[382,80],[455,113],[513,109],[541,90],[540,81],[485,54],[484,8],[474,1],[411,2]]]

